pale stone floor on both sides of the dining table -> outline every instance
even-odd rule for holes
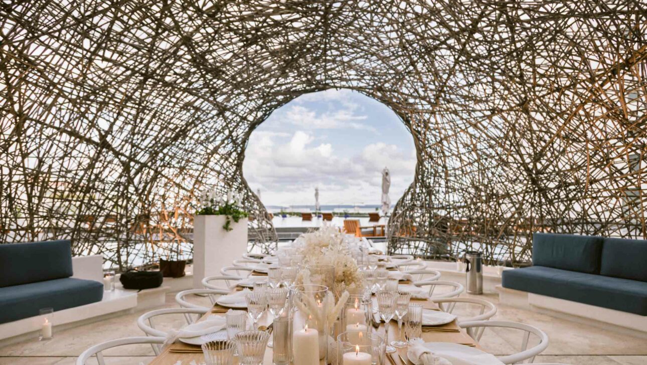
[[[465,294],[463,294],[465,296]],[[569,322],[551,316],[533,313],[499,304],[496,295],[481,296],[494,302],[498,313],[496,320],[512,320],[537,326],[549,338],[548,348],[535,362],[563,362],[573,365],[647,365],[647,340],[621,335],[598,327]],[[166,298],[165,307],[177,307],[173,294]],[[197,304],[206,305],[205,298],[195,298]],[[469,309],[456,309],[457,314],[468,315]],[[142,336],[136,320],[144,311],[118,316],[101,322],[55,331],[54,338],[47,342],[26,340],[0,348],[0,365],[73,365],[76,357],[89,346],[113,338]],[[181,315],[159,318],[155,326],[159,329],[179,327],[184,323]],[[481,339],[481,345],[490,353],[507,355],[518,351],[520,336],[514,330],[488,329]],[[146,364],[153,352],[146,345],[126,346],[105,351],[106,364]],[[94,359],[88,364],[94,364]],[[173,365],[173,364],[169,364]],[[188,365],[188,364],[183,364]]]

